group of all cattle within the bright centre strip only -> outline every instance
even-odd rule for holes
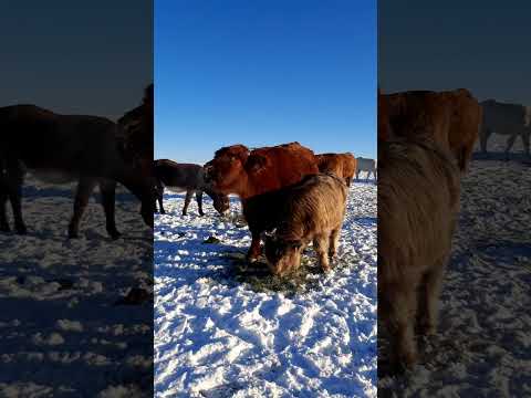
[[[374,160],[358,159],[364,170],[375,174]],[[220,213],[229,209],[228,196],[238,196],[252,237],[248,261],[259,258],[264,239],[272,273],[285,275],[300,265],[301,253],[310,242],[323,271],[330,269],[357,163],[351,153],[315,155],[299,143],[252,150],[232,145],[217,150],[202,167],[155,160],[154,177],[163,213],[165,187],[186,191],[183,214],[194,193],[200,214],[202,192],[212,198]]]

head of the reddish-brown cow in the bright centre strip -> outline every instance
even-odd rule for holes
[[[205,182],[219,193],[237,193],[246,172],[248,157],[249,149],[243,145],[232,145],[217,150],[214,159],[204,167]]]

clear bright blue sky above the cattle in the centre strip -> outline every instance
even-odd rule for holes
[[[156,0],[155,158],[299,140],[376,156],[375,0]]]

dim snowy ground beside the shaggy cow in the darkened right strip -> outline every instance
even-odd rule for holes
[[[489,149],[502,150],[506,139],[494,136]],[[378,396],[531,396],[530,192],[529,164],[472,161],[462,179],[439,333],[421,342],[424,362],[413,371],[379,380]]]

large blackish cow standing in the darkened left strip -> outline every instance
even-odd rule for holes
[[[140,201],[144,221],[153,228],[153,191],[138,165],[119,150],[117,126],[96,116],[60,115],[34,105],[0,108],[0,224],[9,230],[6,205],[11,201],[18,233],[25,233],[21,190],[25,169],[46,180],[79,180],[69,237],[77,237],[79,223],[96,184],[100,184],[107,232],[119,233],[114,221],[116,181]]]

